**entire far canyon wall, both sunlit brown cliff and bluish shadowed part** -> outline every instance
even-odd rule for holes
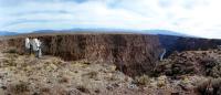
[[[30,35],[27,35],[30,36]],[[148,34],[48,34],[31,35],[42,42],[44,55],[60,56],[65,61],[90,60],[115,64],[127,75],[151,74],[162,49],[167,56],[172,52],[215,49],[221,40]],[[24,54],[24,39],[8,40],[20,54]]]

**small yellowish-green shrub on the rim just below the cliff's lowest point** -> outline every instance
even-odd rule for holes
[[[135,83],[137,85],[147,85],[147,84],[149,84],[149,82],[150,82],[149,76],[143,75],[143,76],[136,76],[133,83]]]

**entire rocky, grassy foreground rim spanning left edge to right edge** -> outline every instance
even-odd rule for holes
[[[112,64],[36,59],[0,45],[0,95],[220,95],[219,55],[219,50],[173,53],[155,75],[131,78]]]

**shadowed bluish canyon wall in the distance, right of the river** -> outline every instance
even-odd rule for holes
[[[172,52],[178,51],[198,51],[217,49],[221,45],[221,40],[215,39],[200,39],[200,38],[182,38],[172,35],[159,35],[160,44],[167,50],[166,56]]]

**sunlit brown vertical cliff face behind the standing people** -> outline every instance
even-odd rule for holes
[[[87,59],[114,63],[119,71],[135,76],[149,74],[161,48],[157,35],[143,34],[67,34],[34,36],[43,42],[43,53],[66,61]],[[24,38],[9,44],[24,53]]]

